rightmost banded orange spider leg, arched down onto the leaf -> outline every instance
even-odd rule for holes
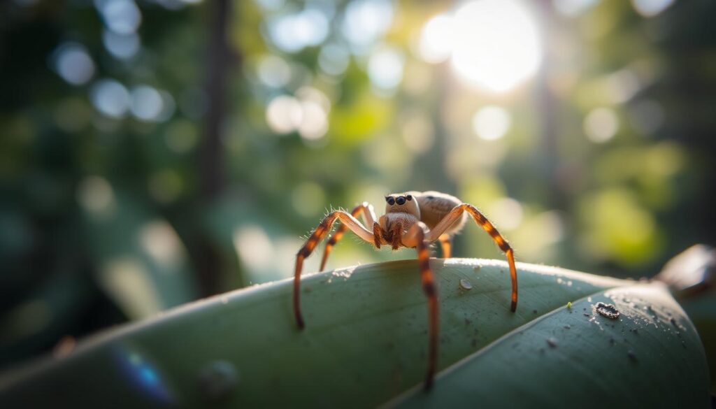
[[[510,277],[512,279],[512,303],[510,310],[515,312],[517,309],[517,269],[515,267],[515,253],[507,240],[505,240],[500,232],[497,231],[495,225],[493,225],[493,223],[490,222],[488,218],[483,215],[483,213],[480,213],[475,206],[470,203],[463,203],[455,206],[450,213],[445,215],[445,217],[442,218],[442,220],[437,223],[434,228],[432,228],[427,241],[432,243],[437,240],[445,232],[445,230],[448,229],[448,227],[452,226],[455,221],[458,221],[458,219],[463,216],[463,211],[467,211],[471,216],[473,216],[475,223],[478,223],[483,230],[487,231],[498,247],[500,247],[500,250],[504,251],[505,256],[507,256],[507,262],[510,265]]]

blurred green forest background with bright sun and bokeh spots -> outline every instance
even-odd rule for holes
[[[475,204],[519,261],[652,276],[716,244],[714,16],[710,0],[3,1],[0,367],[289,277],[327,209],[381,213],[391,192]],[[475,226],[455,247],[503,259]],[[413,256],[347,239],[328,266]]]

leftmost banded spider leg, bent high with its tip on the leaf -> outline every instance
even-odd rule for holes
[[[304,328],[304,319],[301,315],[301,302],[299,299],[299,287],[301,285],[301,269],[304,266],[304,259],[313,253],[316,249],[316,245],[319,244],[321,239],[331,230],[333,222],[339,219],[344,226],[348,226],[353,233],[359,236],[364,241],[373,244],[373,234],[367,228],[365,228],[356,218],[351,216],[342,210],[332,211],[328,216],[319,223],[316,230],[313,231],[306,244],[296,254],[296,270],[294,272],[294,315],[296,316],[296,324],[300,329]]]

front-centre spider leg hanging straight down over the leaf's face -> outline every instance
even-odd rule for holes
[[[427,226],[422,221],[418,221],[408,229],[403,236],[406,246],[415,247],[417,251],[417,260],[420,264],[420,281],[422,282],[422,291],[427,297],[427,335],[428,335],[428,354],[427,354],[427,375],[425,375],[425,390],[430,389],[432,380],[435,377],[435,367],[437,367],[437,289],[435,288],[435,275],[430,269],[430,251],[428,245],[430,241],[425,240],[427,236]]]

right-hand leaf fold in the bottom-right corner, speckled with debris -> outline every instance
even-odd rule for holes
[[[614,304],[618,319],[594,312]],[[708,368],[695,327],[666,288],[639,285],[556,309],[442,373],[435,390],[393,404],[432,408],[706,408]]]

